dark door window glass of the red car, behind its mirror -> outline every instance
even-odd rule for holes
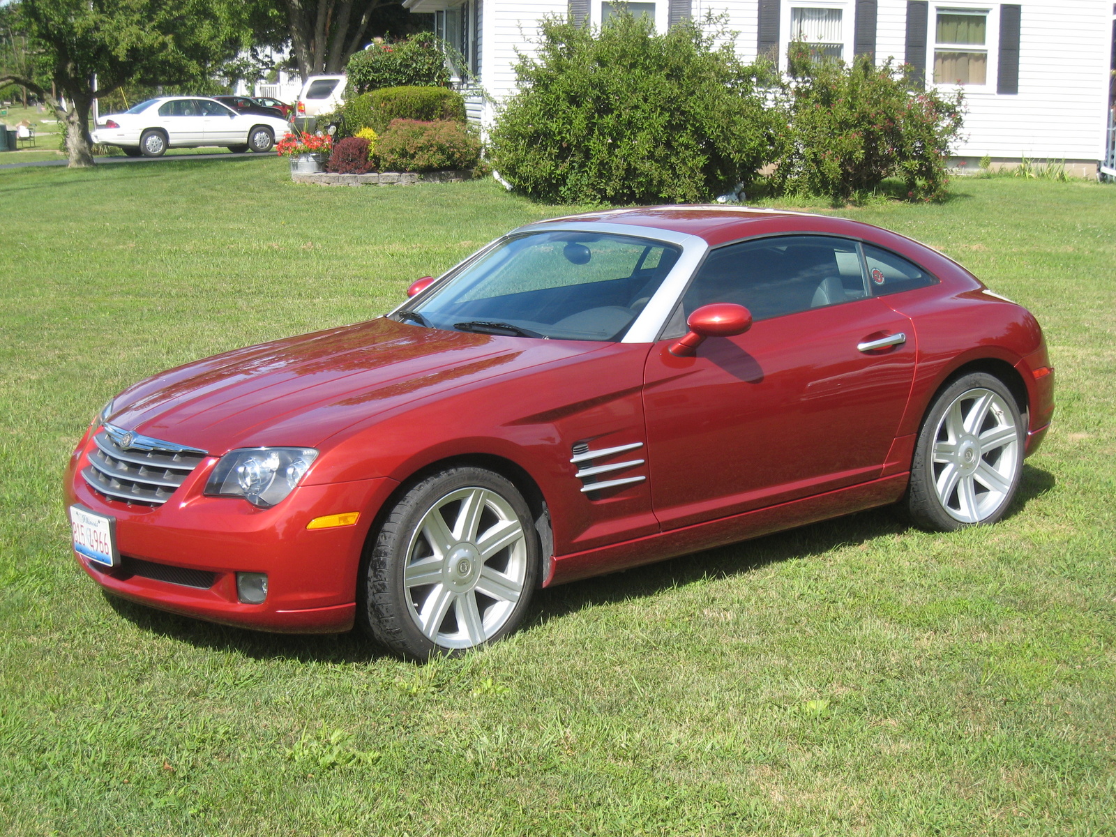
[[[735,302],[757,320],[867,296],[855,241],[783,235],[713,250],[682,299],[686,317],[711,302]]]

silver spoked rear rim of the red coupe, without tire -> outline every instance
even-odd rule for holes
[[[1019,429],[1004,400],[983,387],[961,393],[934,433],[934,492],[962,523],[988,520],[1010,497],[1019,464]]]

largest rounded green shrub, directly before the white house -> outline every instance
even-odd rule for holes
[[[626,13],[600,29],[545,20],[492,131],[492,165],[567,203],[699,201],[751,181],[776,156],[780,112],[722,36],[692,21],[657,35]]]

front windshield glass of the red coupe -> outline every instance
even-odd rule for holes
[[[628,235],[518,235],[395,316],[458,331],[618,340],[680,254],[672,244]]]

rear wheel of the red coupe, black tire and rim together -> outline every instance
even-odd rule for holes
[[[942,389],[915,442],[902,501],[911,522],[955,531],[1000,520],[1019,489],[1024,431],[1014,396],[994,375],[970,373]]]

